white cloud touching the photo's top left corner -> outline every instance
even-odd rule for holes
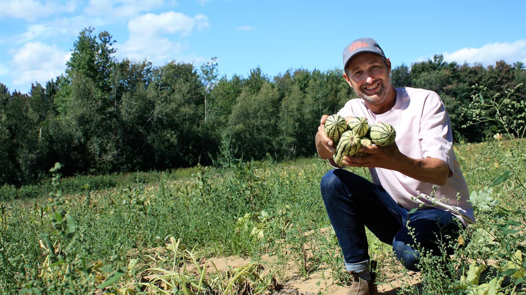
[[[75,2],[57,3],[57,1],[38,1],[38,0],[0,0],[0,19],[2,18],[22,18],[28,21],[39,17],[46,17],[53,14],[73,12]]]

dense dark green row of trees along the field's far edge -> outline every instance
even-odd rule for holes
[[[117,61],[113,44],[107,31],[86,28],[64,75],[35,83],[27,94],[0,83],[0,185],[46,177],[55,162],[74,175],[311,156],[321,115],[356,98],[342,69],[289,69],[269,77],[257,67],[248,77],[228,79],[219,77],[215,58],[200,68],[177,61],[153,66]],[[460,65],[436,55],[393,68],[391,80],[440,94],[455,139],[473,142],[491,130],[462,128],[471,86],[502,92],[526,82],[526,69],[502,60]],[[524,93],[519,88],[513,99]]]

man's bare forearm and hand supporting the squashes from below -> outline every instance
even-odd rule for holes
[[[379,167],[398,171],[416,180],[444,185],[450,174],[446,162],[437,158],[412,159],[400,152],[396,142],[390,145],[362,146],[359,150],[368,155],[345,156],[343,165],[351,167]]]

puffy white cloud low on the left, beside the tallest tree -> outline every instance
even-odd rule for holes
[[[28,87],[32,82],[45,83],[59,76],[66,69],[66,61],[70,52],[60,49],[56,45],[41,42],[24,44],[13,55],[13,84]]]

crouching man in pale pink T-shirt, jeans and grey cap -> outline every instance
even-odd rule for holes
[[[343,158],[344,165],[369,167],[372,183],[332,160],[335,145],[323,131],[327,115],[316,134],[318,154],[338,167],[323,176],[321,195],[354,279],[347,294],[372,295],[378,291],[369,271],[365,226],[392,245],[407,269],[418,270],[419,250],[440,255],[437,240],[456,238],[460,223],[474,222],[473,209],[438,94],[392,87],[391,62],[370,38],[352,41],[343,50],[343,69],[343,78],[360,98],[349,100],[338,114],[389,123],[397,133],[395,143],[363,146],[359,151],[366,156]],[[413,208],[418,210],[410,213]]]

